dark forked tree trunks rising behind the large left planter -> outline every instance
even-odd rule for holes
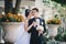
[[[18,14],[21,0],[16,0],[15,8],[13,8],[13,0],[4,0],[4,13]]]

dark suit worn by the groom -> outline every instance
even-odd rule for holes
[[[44,26],[44,32],[46,32],[45,29],[45,21],[41,18],[40,19],[40,25]],[[29,26],[36,20],[36,18],[33,18],[29,21]],[[29,31],[31,33],[31,41],[30,44],[42,44],[42,36],[43,34],[38,35],[38,32],[36,31],[36,28],[32,26],[31,30]]]

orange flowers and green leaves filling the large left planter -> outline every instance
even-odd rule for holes
[[[22,22],[22,21],[24,21],[23,15],[16,15],[12,13],[0,15],[0,22]]]

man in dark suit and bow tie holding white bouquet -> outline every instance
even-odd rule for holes
[[[33,13],[34,18],[29,21],[29,26],[33,22],[36,22],[36,19],[38,19],[40,20],[40,25],[42,25],[44,28],[44,31],[37,31],[36,30],[37,24],[35,23],[35,26],[32,26],[29,30],[29,33],[31,33],[30,44],[42,44],[43,33],[46,32],[45,21],[43,19],[38,18],[38,9],[37,8],[32,9],[32,13]]]

